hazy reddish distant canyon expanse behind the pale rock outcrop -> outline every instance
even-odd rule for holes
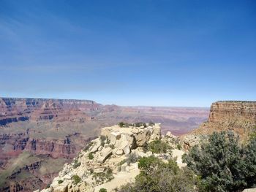
[[[207,120],[200,107],[120,107],[89,100],[0,98],[0,191],[45,188],[100,129],[120,121],[161,123],[187,134]],[[14,166],[14,164],[16,166]]]

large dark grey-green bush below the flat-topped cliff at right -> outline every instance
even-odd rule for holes
[[[256,139],[241,146],[233,132],[214,133],[183,161],[200,177],[200,191],[242,191],[256,184]]]

